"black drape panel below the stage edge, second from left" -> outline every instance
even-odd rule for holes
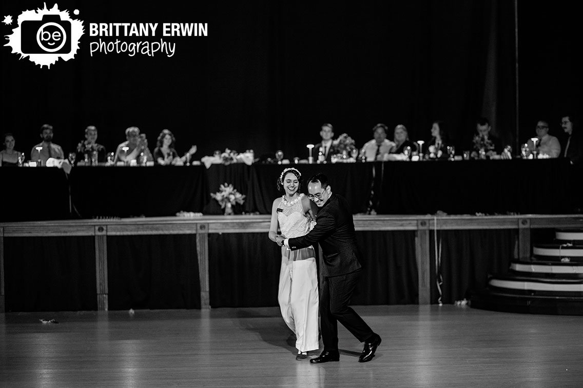
[[[201,308],[196,235],[109,236],[107,277],[110,310]]]

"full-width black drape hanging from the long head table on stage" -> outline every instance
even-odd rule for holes
[[[583,208],[581,171],[565,159],[254,164],[189,167],[0,168],[1,221],[222,214],[210,193],[232,184],[245,195],[236,214],[270,214],[283,195],[276,180],[286,167],[302,174],[301,191],[317,172],[345,196],[354,214],[370,201],[378,214],[571,214]],[[72,214],[69,213],[69,186]],[[374,195],[373,195],[374,193]]]

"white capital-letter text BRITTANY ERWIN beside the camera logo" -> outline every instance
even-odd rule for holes
[[[89,36],[156,36],[159,23],[89,23]],[[208,36],[207,23],[162,23],[162,36]]]

